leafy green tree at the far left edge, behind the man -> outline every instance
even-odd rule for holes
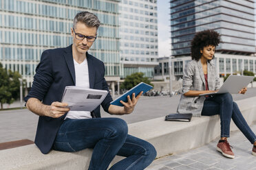
[[[3,104],[12,104],[15,99],[19,99],[19,79],[21,75],[15,71],[6,71],[0,63],[0,103],[1,110]]]

